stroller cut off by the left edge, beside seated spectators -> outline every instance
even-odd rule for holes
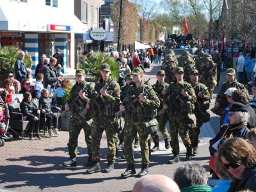
[[[8,133],[8,127],[10,122],[9,109],[4,101],[0,101],[0,107],[3,108],[3,115],[0,122],[0,147],[4,146],[5,141],[13,141],[12,134]]]

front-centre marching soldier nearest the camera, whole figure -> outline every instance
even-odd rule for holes
[[[141,172],[138,177],[148,174],[149,150],[148,140],[151,130],[156,130],[158,122],[156,120],[157,108],[160,100],[156,92],[142,81],[143,70],[134,68],[132,71],[132,84],[129,87],[127,95],[120,105],[120,111],[124,113],[124,118],[127,120],[127,127],[124,132],[124,155],[127,162],[127,169],[122,173],[122,178],[135,175],[134,156],[132,142],[137,134],[140,136],[141,148]],[[129,107],[129,105],[131,107]]]

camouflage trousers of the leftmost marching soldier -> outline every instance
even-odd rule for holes
[[[92,156],[91,152],[91,143],[92,143],[92,136],[91,136],[91,127],[92,127],[92,119],[85,121],[80,116],[72,116],[69,122],[69,139],[68,139],[68,153],[70,159],[77,156],[77,140],[78,136],[81,132],[81,129],[84,130],[85,142],[87,145],[88,155]]]

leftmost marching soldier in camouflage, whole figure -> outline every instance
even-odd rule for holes
[[[92,150],[91,150],[91,127],[92,119],[88,119],[81,115],[81,112],[86,105],[86,102],[90,100],[94,86],[92,84],[86,83],[84,81],[84,70],[76,70],[76,84],[72,87],[70,91],[70,99],[65,104],[65,111],[71,111],[72,117],[69,122],[69,140],[68,140],[68,154],[69,160],[63,162],[64,166],[76,166],[76,156],[77,156],[77,140],[81,132],[81,129],[84,130],[85,142],[88,149],[88,162],[86,165],[92,163]],[[82,92],[81,92],[82,91]]]

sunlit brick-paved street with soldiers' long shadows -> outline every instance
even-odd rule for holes
[[[149,77],[151,83],[156,82],[156,72],[159,65],[151,65],[145,69],[145,79]],[[225,81],[225,73],[221,74],[221,81]],[[221,83],[220,83],[221,84]],[[214,100],[216,92],[214,90]],[[219,129],[220,118],[212,115],[211,122],[204,124],[201,131],[201,141],[199,153],[193,157],[209,173],[209,140],[214,136],[214,132]],[[79,156],[77,157],[77,168],[65,168],[61,166],[63,161],[68,159],[68,132],[60,131],[61,136],[42,138],[41,141],[15,140],[6,142],[4,147],[0,147],[0,191],[131,191],[132,186],[138,177],[120,179],[120,175],[126,169],[126,163],[118,152],[118,159],[115,163],[115,170],[111,173],[86,174],[87,150],[84,142],[84,133],[79,136]],[[48,134],[47,134],[48,135]],[[160,134],[161,135],[161,134]],[[161,138],[159,152],[152,154],[150,158],[150,174],[163,174],[173,177],[173,172],[179,164],[167,164],[172,157],[171,149],[165,150],[164,141]],[[100,145],[100,166],[102,169],[108,163],[106,161],[106,136],[102,137]],[[181,160],[185,161],[186,152],[184,145],[180,143]],[[140,150],[134,152],[136,158],[136,172],[140,172]],[[210,175],[209,175],[210,176]]]

